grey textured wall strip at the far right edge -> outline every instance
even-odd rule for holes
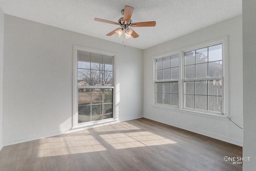
[[[243,0],[244,171],[256,170],[256,1]]]

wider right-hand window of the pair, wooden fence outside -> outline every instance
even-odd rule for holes
[[[222,113],[222,44],[184,52],[184,108]]]

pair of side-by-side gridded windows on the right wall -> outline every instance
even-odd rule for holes
[[[227,39],[167,52],[173,54],[170,56],[155,56],[154,105],[198,115],[228,114]]]

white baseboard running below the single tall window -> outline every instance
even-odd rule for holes
[[[74,129],[70,128],[70,129],[54,131],[54,132],[50,132],[50,133],[43,133],[43,134],[40,134],[40,135],[32,135],[32,136],[29,136],[29,137],[11,139],[11,140],[8,140],[8,141],[3,141],[3,146],[18,144],[18,143],[24,143],[24,142],[27,142],[27,141],[33,141],[33,140],[36,140],[36,139],[52,137],[52,136],[61,135],[61,134],[64,134],[64,133],[73,132],[73,131],[80,131],[80,130],[83,130],[83,129],[89,129],[89,128],[93,128],[93,127],[109,125],[109,124],[112,124],[112,123],[128,121],[128,120],[132,120],[132,119],[138,119],[138,118],[141,118],[141,117],[143,117],[143,115],[137,115],[137,116],[133,116],[133,117],[126,117],[126,118],[122,118],[122,119],[116,119],[114,121],[110,121],[110,122],[106,122],[106,123],[99,123],[97,125],[89,125],[89,126],[78,127],[78,128],[74,128]]]

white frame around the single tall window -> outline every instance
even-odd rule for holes
[[[89,53],[94,53],[94,54],[101,54],[101,55],[106,55],[106,56],[113,56],[113,72],[112,72],[112,87],[113,87],[113,118],[109,119],[103,119],[103,120],[98,120],[98,121],[90,121],[90,122],[84,122],[84,123],[78,123],[78,56],[77,52],[82,51],[82,52],[89,52]],[[73,100],[72,100],[72,128],[79,128],[79,127],[86,127],[86,126],[92,126],[92,125],[98,125],[98,124],[103,124],[111,121],[116,120],[116,103],[115,103],[115,56],[116,54],[113,52],[107,52],[107,51],[102,51],[102,50],[97,50],[93,48],[87,48],[87,47],[82,47],[82,46],[73,46],[73,87],[72,87],[72,94],[73,94]],[[101,86],[96,86],[96,88],[101,88]],[[108,88],[108,87],[104,87]]]

